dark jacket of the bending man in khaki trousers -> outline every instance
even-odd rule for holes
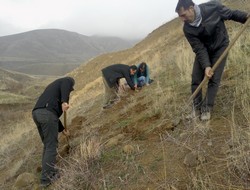
[[[132,90],[135,89],[134,82],[131,80],[130,67],[124,64],[114,64],[102,69],[102,74],[110,88],[114,87],[119,79],[125,78]]]

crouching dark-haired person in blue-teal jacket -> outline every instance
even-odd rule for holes
[[[137,71],[134,75],[134,83],[136,87],[149,85],[150,83],[149,66],[145,62],[142,62],[139,65],[137,65]]]

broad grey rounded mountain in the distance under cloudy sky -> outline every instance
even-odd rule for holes
[[[34,30],[0,37],[0,67],[29,74],[65,74],[90,58],[127,49],[135,43],[117,37],[88,37],[58,29]],[[41,72],[44,64],[57,68],[67,66],[67,69],[60,69],[63,73],[54,72],[58,69]],[[36,69],[37,65],[39,69]]]

